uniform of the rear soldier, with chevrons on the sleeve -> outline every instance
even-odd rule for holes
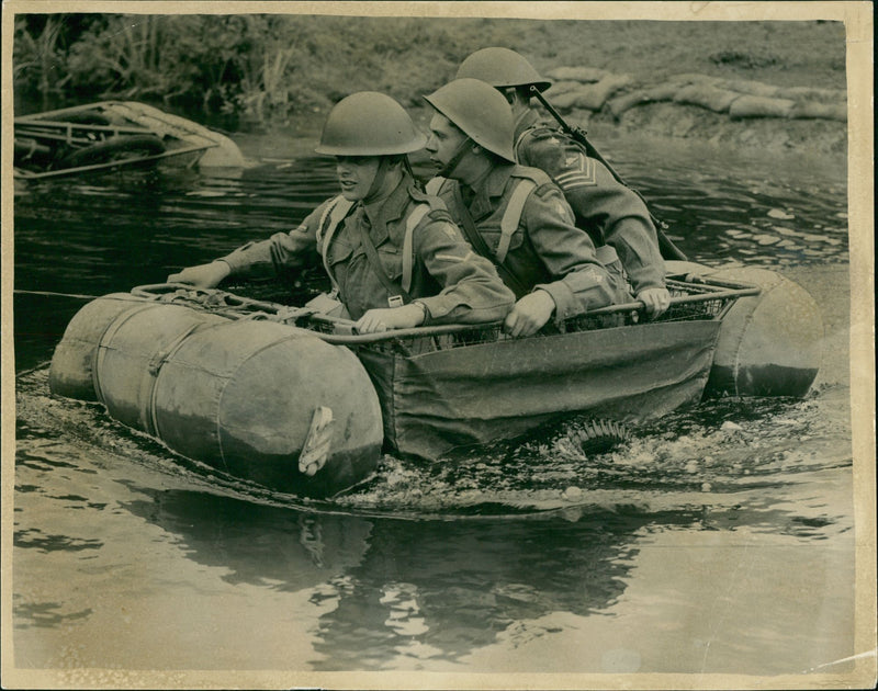
[[[563,132],[540,123],[528,110],[515,124],[515,155],[555,181],[576,215],[576,225],[597,245],[610,245],[635,293],[664,287],[664,260],[655,226],[637,193],[599,161],[588,158]]]

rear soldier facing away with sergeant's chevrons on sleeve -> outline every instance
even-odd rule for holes
[[[577,226],[588,230],[598,247],[606,243],[616,250],[646,313],[652,317],[664,313],[671,295],[646,205],[567,134],[539,121],[530,106],[530,87],[544,91],[551,82],[508,48],[476,50],[461,63],[457,78],[481,79],[503,93],[515,118],[516,160],[552,177],[576,214]]]

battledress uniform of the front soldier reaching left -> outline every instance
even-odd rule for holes
[[[352,319],[367,310],[396,306],[367,257],[360,239],[364,229],[372,240],[390,283],[402,288],[406,220],[418,205],[429,211],[412,234],[410,286],[399,294],[417,298],[426,308],[424,324],[481,324],[503,319],[514,304],[513,294],[491,262],[472,251],[441,202],[418,192],[409,177],[385,200],[357,203],[325,234],[330,215],[327,200],[290,233],[249,242],[223,257],[232,275],[272,275],[279,269],[319,262],[329,271],[339,297]]]

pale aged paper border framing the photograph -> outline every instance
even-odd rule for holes
[[[348,14],[363,16],[567,20],[844,22],[847,60],[847,190],[851,279],[851,408],[854,453],[855,654],[845,673],[786,676],[313,672],[295,670],[78,670],[90,688],[325,689],[826,689],[876,682],[876,464],[874,268],[874,13],[870,2],[128,2],[8,0],[2,22],[2,687],[70,688],[64,670],[19,669],[13,660],[12,526],[15,454],[13,362],[12,46],[15,13]],[[842,660],[835,660],[842,661]],[[123,672],[124,687],[120,686]],[[81,673],[77,675],[82,688]],[[112,679],[113,681],[109,681]]]

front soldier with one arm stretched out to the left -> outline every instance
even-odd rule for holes
[[[406,155],[425,140],[390,97],[342,99],[315,149],[336,157],[341,194],[294,230],[183,269],[168,282],[213,287],[229,275],[271,275],[323,259],[362,333],[503,319],[513,294],[491,262],[473,253],[441,201],[415,186]]]

